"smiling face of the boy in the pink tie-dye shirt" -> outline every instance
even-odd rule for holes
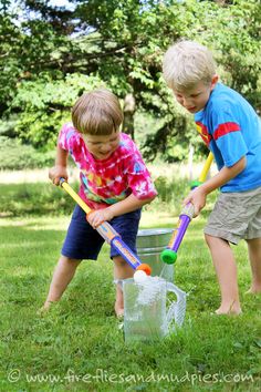
[[[96,159],[107,159],[112,153],[118,147],[119,131],[113,132],[111,135],[83,135],[81,134],[86,147]]]

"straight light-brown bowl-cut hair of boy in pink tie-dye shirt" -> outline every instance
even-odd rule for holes
[[[74,127],[82,134],[111,135],[123,122],[118,99],[106,89],[84,93],[72,109]]]

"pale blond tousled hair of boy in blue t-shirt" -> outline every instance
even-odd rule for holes
[[[163,75],[173,90],[194,87],[198,82],[210,83],[216,74],[211,52],[194,41],[178,41],[164,55]]]

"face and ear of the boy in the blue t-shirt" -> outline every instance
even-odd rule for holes
[[[174,94],[178,103],[187,109],[189,113],[201,111],[208,103],[211,91],[218,82],[218,76],[213,76],[209,84],[200,81],[191,89],[175,90]]]

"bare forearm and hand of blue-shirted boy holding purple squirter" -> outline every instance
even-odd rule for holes
[[[185,198],[184,204],[186,205],[188,203],[192,203],[195,208],[195,216],[197,216],[199,212],[205,207],[207,196],[215,189],[218,189],[220,186],[227,184],[230,179],[234,178],[244,169],[246,165],[247,159],[246,156],[243,156],[233,166],[223,166],[221,171],[212,178],[208,179],[206,183],[190,192],[188,197]]]

